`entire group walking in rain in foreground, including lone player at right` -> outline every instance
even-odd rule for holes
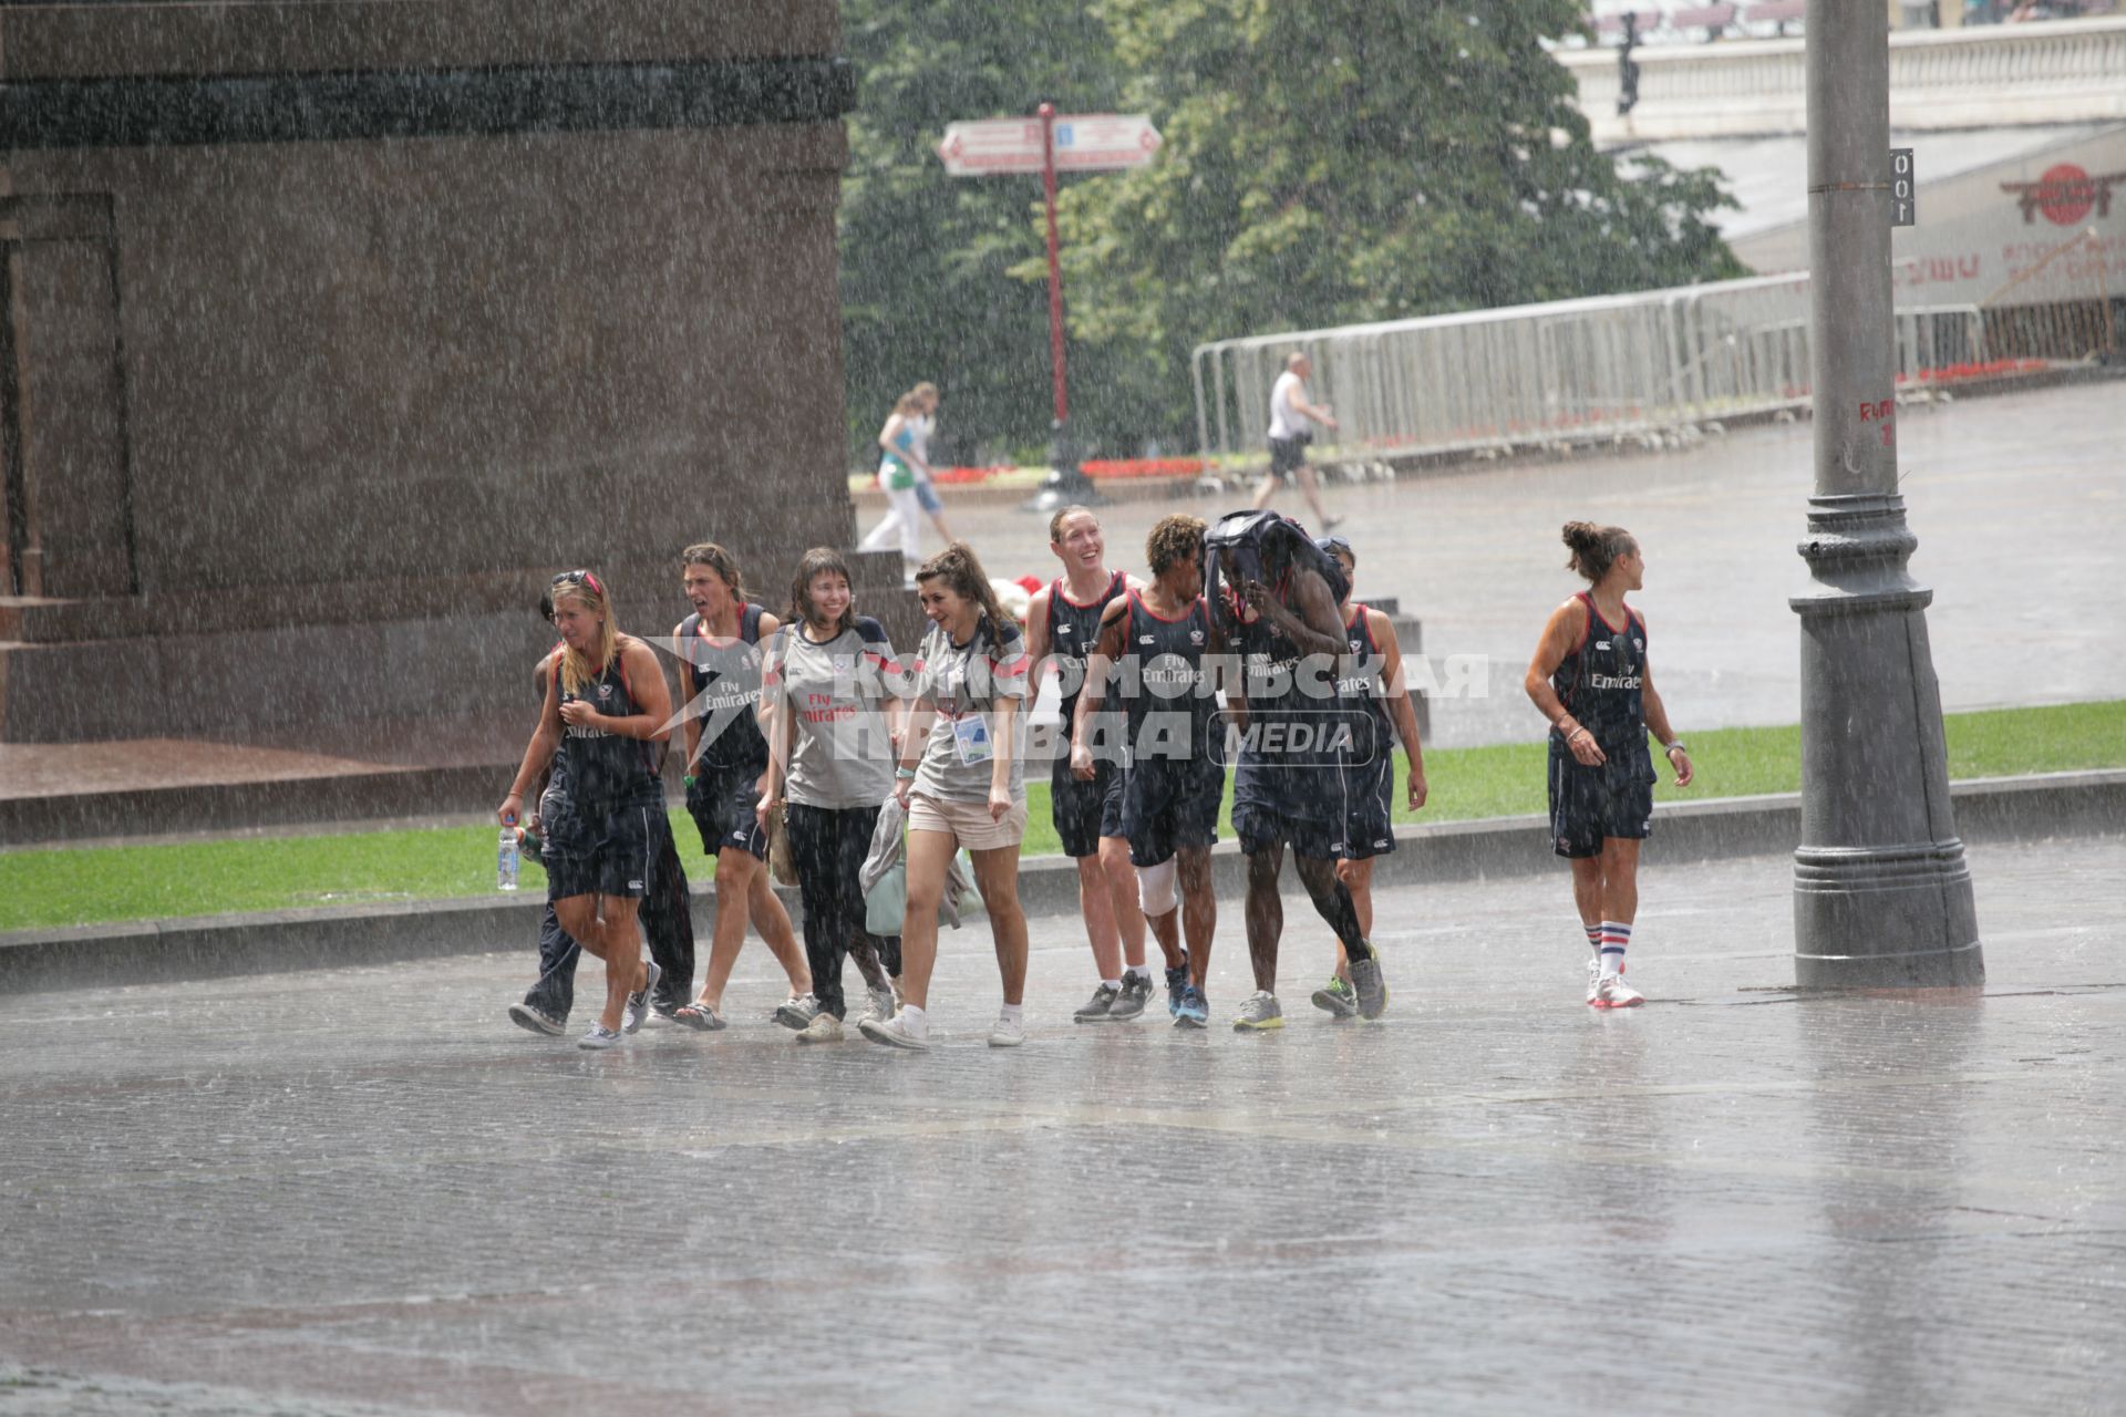
[[[1282,535],[1242,540],[1261,527]],[[1142,1018],[1163,986],[1176,1026],[1208,1026],[1218,926],[1210,848],[1229,771],[1254,981],[1233,1026],[1284,1026],[1286,854],[1337,945],[1314,1005],[1380,1018],[1388,981],[1371,943],[1371,865],[1395,850],[1397,797],[1410,812],[1427,801],[1395,629],[1354,599],[1350,540],[1307,540],[1273,512],[1229,516],[1210,544],[1208,531],[1197,516],[1161,518],[1137,576],[1108,563],[1091,510],[1057,512],[1048,548],[1061,574],[1033,595],[1025,625],[955,542],[916,567],[929,629],[912,654],[859,612],[850,567],[831,548],[799,557],[778,616],[753,599],[725,548],[689,546],[680,586],[691,614],[668,646],[680,665],[676,707],[657,652],[619,631],[597,576],[557,576],[544,610],[559,644],[536,671],[540,724],[497,812],[536,837],[549,880],[540,979],[510,1018],[563,1032],[580,947],[606,962],[604,1009],[583,1047],[612,1047],[653,1011],[721,1030],[753,924],[789,979],[774,1018],[799,1043],[846,1039],[842,977],[855,960],[859,1032],[925,1049],[940,914],[972,888],[1003,996],[989,1043],[1023,1043],[1029,756],[1050,771],[1050,814],[1078,867],[1097,975],[1076,1022]],[[1680,784],[1690,758],[1652,686],[1646,618],[1624,603],[1643,578],[1637,544],[1588,523],[1567,525],[1565,542],[1588,591],[1550,616],[1526,688],[1552,727],[1552,835],[1573,869],[1588,1003],[1629,1007],[1641,998],[1622,973],[1637,846],[1652,818],[1648,731]],[[1052,731],[1029,724],[1048,678],[1061,718]],[[716,863],[710,960],[691,998],[687,886],[659,778],[674,727],[687,809]],[[1395,744],[1407,763],[1401,782]],[[774,852],[797,880],[804,950],[767,880]]]

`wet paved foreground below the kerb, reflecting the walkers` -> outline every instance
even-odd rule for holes
[[[1380,894],[1380,1026],[797,1047],[508,1026],[529,967],[0,998],[0,1413],[2115,1411],[2126,837],[1971,852],[1990,981],[1796,998],[1788,858]],[[1214,1022],[1246,986],[1220,901]],[[578,1018],[578,1024],[585,1020]]]

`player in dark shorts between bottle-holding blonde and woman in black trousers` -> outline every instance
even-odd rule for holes
[[[714,542],[680,552],[680,578],[693,603],[693,614],[672,627],[687,737],[687,814],[702,833],[702,852],[716,863],[716,931],[699,998],[672,1018],[716,1030],[725,1026],[723,988],[746,943],[748,918],[789,975],[784,1005],[812,992],[812,971],[767,880],[767,831],[759,818],[767,788],[761,637],[774,635],[780,622],[746,599],[738,559]],[[774,1018],[787,1015],[778,1009]]]

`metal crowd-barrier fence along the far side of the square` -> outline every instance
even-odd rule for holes
[[[1896,372],[1924,380],[1986,357],[1977,306],[1896,312]],[[1290,351],[1339,429],[1329,461],[1590,442],[1799,408],[1809,397],[1809,278],[1469,310],[1199,344],[1203,453],[1259,453]]]

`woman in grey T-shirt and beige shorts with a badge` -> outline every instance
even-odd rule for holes
[[[938,905],[952,854],[967,848],[1003,975],[991,1047],[1027,1041],[1027,916],[1018,907],[1018,843],[1027,835],[1018,710],[1027,642],[1003,614],[982,563],[952,542],[916,571],[931,631],[914,663],[914,714],[901,737],[893,792],[908,807],[908,909],[901,916],[901,1007],[863,1020],[863,1037],[929,1047],[929,979],[938,962]]]

